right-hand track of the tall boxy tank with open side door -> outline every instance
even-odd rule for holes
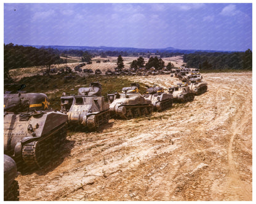
[[[87,118],[87,126],[89,129],[94,129],[108,123],[110,119],[110,111],[104,111],[95,115],[90,115]]]

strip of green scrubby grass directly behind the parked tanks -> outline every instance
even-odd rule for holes
[[[77,74],[73,74],[75,78],[66,80],[63,74],[56,75],[37,75],[33,77],[25,77],[18,81],[19,84],[25,84],[26,88],[23,91],[27,93],[46,93],[50,107],[54,110],[60,110],[60,97],[62,93],[66,94],[78,94],[80,87],[88,87],[93,81],[98,81],[102,84],[102,96],[107,100],[107,94],[119,92],[123,87],[130,86],[132,81],[130,77],[118,77],[118,76],[105,76],[105,75],[89,75],[87,77],[80,77]],[[140,93],[146,93],[146,85],[140,84]],[[7,90],[4,90],[7,91]]]

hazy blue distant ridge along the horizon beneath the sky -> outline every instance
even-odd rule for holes
[[[231,52],[231,51],[220,51],[220,50],[182,50],[178,48],[173,47],[167,47],[167,48],[132,48],[132,47],[106,47],[106,46],[98,46],[98,47],[89,47],[89,46],[64,46],[64,45],[23,45],[25,47],[31,46],[35,48],[54,48],[58,50],[97,50],[97,51],[127,51],[127,52],[150,52],[150,53],[156,53],[159,52],[168,52],[168,53],[195,53],[198,51],[204,51],[204,52]]]

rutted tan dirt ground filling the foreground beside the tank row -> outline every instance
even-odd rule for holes
[[[202,76],[193,102],[70,133],[49,167],[18,176],[20,200],[252,200],[252,73]]]

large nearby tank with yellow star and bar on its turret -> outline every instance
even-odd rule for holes
[[[66,138],[68,116],[50,111],[46,94],[4,94],[4,153],[17,165],[42,168]]]

